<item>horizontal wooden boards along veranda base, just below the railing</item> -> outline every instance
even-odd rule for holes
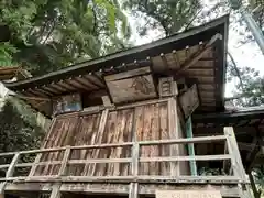
[[[19,191],[51,191],[53,189],[52,183],[8,183],[4,193],[16,194]],[[169,185],[169,184],[140,184],[139,194],[154,196],[155,191],[160,190],[220,190],[223,197],[240,197],[240,188],[238,185]],[[85,183],[65,183],[59,188],[61,193],[81,193],[87,195],[129,195],[129,184],[85,184]]]

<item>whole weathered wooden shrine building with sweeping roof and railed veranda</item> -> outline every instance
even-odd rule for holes
[[[53,122],[38,150],[0,153],[1,194],[251,197],[264,111],[224,108],[228,19],[6,84]]]

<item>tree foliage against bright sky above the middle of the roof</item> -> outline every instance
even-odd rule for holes
[[[145,22],[140,26],[141,35],[153,29],[162,29],[166,35],[170,35],[191,25],[199,12],[200,1],[125,0],[123,7]]]

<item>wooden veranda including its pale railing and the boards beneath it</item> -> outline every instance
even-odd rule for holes
[[[189,144],[224,142],[226,151],[221,155],[199,155],[199,156],[163,156],[163,157],[142,157],[141,150],[144,146]],[[72,160],[70,154],[78,150],[100,150],[100,148],[130,147],[132,155],[125,158],[78,158]],[[61,161],[41,161],[40,154],[51,154],[63,152]],[[20,163],[23,155],[34,154],[33,162]],[[0,165],[0,168],[7,168],[7,174],[1,180],[1,191],[6,194],[31,195],[32,193],[46,194],[51,197],[58,197],[65,193],[82,193],[86,195],[123,195],[130,198],[138,195],[154,196],[156,189],[217,189],[223,197],[248,197],[246,185],[249,179],[244,173],[242,162],[239,155],[238,145],[232,128],[226,128],[223,135],[200,136],[191,139],[176,139],[163,141],[138,141],[123,142],[116,144],[64,146],[53,148],[42,148],[32,151],[21,151],[11,153],[1,153],[1,157],[12,156],[10,164]],[[188,162],[188,161],[222,161],[224,175],[212,176],[164,176],[164,175],[141,175],[139,167],[141,163],[158,162]],[[74,165],[87,166],[88,164],[98,165],[101,163],[129,163],[129,175],[105,175],[105,176],[79,176],[69,175],[68,169]],[[33,176],[36,166],[58,165],[58,173],[54,175]],[[19,168],[29,167],[30,172],[24,176],[16,173]],[[24,174],[24,173],[23,173]],[[26,194],[28,193],[28,194]],[[14,194],[14,195],[15,195]]]

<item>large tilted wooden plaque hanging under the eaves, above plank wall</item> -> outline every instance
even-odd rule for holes
[[[157,97],[150,67],[142,67],[105,77],[113,103]]]

